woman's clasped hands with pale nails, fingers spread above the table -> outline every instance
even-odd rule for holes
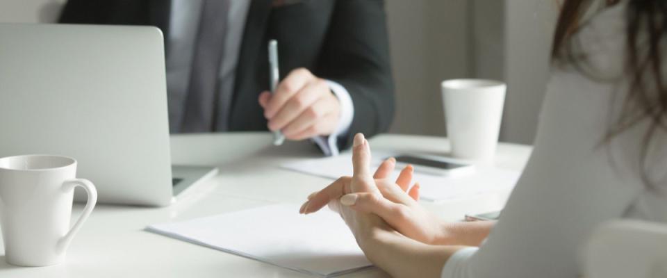
[[[412,167],[406,167],[393,183],[386,177],[393,171],[395,161],[388,159],[372,177],[370,147],[361,134],[354,137],[352,162],[352,177],[338,179],[311,194],[300,213],[312,213],[329,204],[340,213],[374,265],[393,277],[440,277],[445,261],[461,246],[425,244],[438,241],[445,229],[439,229],[436,223],[440,221],[417,204],[419,186],[406,189],[412,180]],[[472,231],[458,230],[463,234]],[[488,234],[488,227],[483,230]]]

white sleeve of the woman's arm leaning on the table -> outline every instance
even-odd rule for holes
[[[605,142],[618,116],[614,100],[623,101],[625,92],[576,70],[552,74],[534,151],[500,220],[479,250],[460,250],[447,261],[443,278],[579,277],[580,249],[591,231],[632,213],[645,191],[632,166],[639,165],[645,125]]]

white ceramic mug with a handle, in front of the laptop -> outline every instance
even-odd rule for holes
[[[74,188],[88,193],[83,214],[70,229]],[[76,179],[76,160],[29,155],[0,158],[0,228],[7,263],[54,265],[97,203],[97,190]]]

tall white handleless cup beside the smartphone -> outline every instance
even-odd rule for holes
[[[482,79],[443,81],[447,137],[452,156],[488,162],[495,154],[507,85]]]

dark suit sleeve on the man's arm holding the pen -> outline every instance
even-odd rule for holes
[[[343,85],[352,97],[354,119],[341,149],[355,133],[387,131],[394,116],[394,85],[389,62],[383,0],[338,0],[315,72]]]

